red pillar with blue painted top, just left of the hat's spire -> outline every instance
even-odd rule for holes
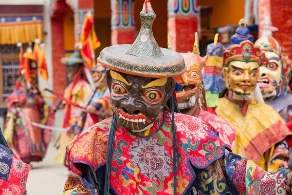
[[[111,45],[132,44],[136,39],[135,0],[110,0]]]

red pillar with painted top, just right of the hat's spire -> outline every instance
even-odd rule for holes
[[[199,9],[197,0],[168,0],[167,28],[174,51],[190,51],[190,48],[194,45],[198,26]]]

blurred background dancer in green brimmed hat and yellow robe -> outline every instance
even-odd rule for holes
[[[61,60],[62,63],[67,65],[67,79],[70,82],[65,88],[63,98],[69,101],[61,101],[62,106],[58,108],[64,109],[63,128],[67,129],[67,132],[61,132],[58,154],[55,161],[68,166],[65,161],[64,152],[69,141],[82,131],[84,121],[82,121],[82,108],[80,107],[85,107],[86,101],[92,93],[92,89],[83,64],[85,60],[81,57],[78,48],[76,48],[70,57],[64,57]],[[80,107],[74,107],[73,103]]]

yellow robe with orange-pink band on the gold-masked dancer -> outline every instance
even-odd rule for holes
[[[285,122],[267,104],[246,101],[242,108],[228,98],[220,98],[216,113],[236,131],[234,153],[252,159],[258,166],[276,172],[290,158],[286,140],[291,135]]]

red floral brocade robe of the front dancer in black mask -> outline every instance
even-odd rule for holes
[[[172,195],[172,122],[161,113],[151,134],[142,137],[116,124],[110,195]],[[286,194],[288,170],[265,172],[231,153],[208,124],[175,113],[177,195]],[[112,118],[75,136],[66,152],[72,169],[63,195],[105,195],[107,145]]]

